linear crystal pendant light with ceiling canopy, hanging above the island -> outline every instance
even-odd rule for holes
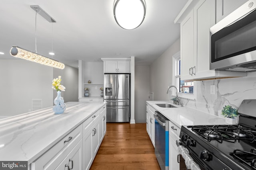
[[[40,14],[43,18],[45,18],[49,22],[56,22],[51,16],[49,16],[42,8],[40,8],[38,5],[30,6],[33,10],[36,11],[36,14]],[[36,41],[36,29],[35,29],[35,41]],[[28,51],[26,49],[23,49],[18,46],[12,46],[10,50],[10,54],[14,57],[18,57],[21,59],[25,59],[28,61],[33,61],[36,63],[44,64],[47,66],[52,66],[55,68],[64,69],[65,65],[63,63],[60,63],[56,60],[50,59],[48,57],[44,57],[42,55],[39,55],[37,53],[37,50],[35,50],[35,53],[32,51]]]

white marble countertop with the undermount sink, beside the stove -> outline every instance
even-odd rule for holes
[[[209,113],[192,109],[190,107],[180,107],[174,105],[170,101],[147,101],[147,103],[154,107],[157,111],[162,113],[167,119],[172,121],[176,126],[182,125],[226,125],[225,119]],[[176,107],[164,108],[156,104],[169,103]]]

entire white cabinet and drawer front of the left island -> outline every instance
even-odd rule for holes
[[[106,133],[106,105],[32,162],[31,170],[89,170]]]

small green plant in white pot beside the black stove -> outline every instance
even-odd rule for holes
[[[221,114],[224,115],[226,123],[228,124],[236,123],[236,117],[238,115],[237,109],[228,105],[223,107]]]

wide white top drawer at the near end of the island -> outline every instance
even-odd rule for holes
[[[52,167],[57,167],[82,139],[82,130],[81,124],[35,162],[32,162],[32,170],[51,170]]]

